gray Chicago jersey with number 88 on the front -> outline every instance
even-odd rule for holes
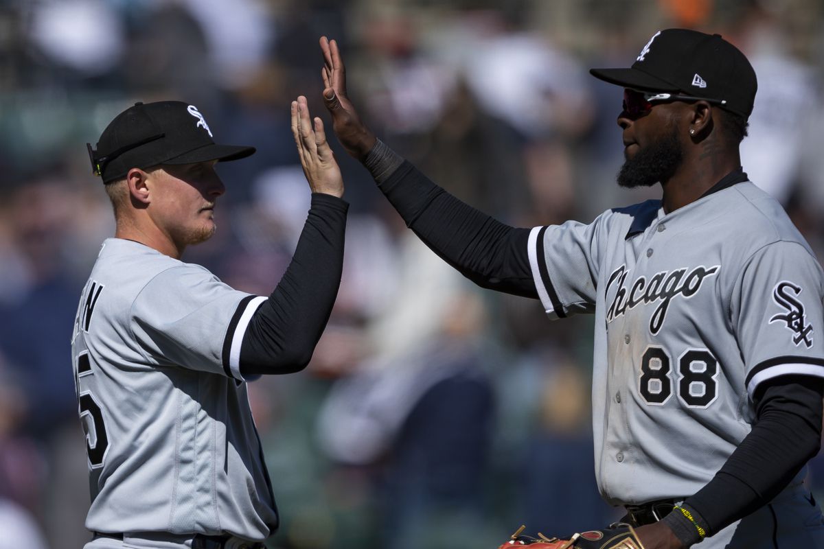
[[[750,432],[759,384],[824,377],[822,268],[750,182],[668,214],[648,201],[536,227],[528,251],[550,317],[595,314],[596,476],[613,505],[699,491]]]

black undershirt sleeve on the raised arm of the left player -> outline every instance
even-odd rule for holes
[[[309,363],[338,295],[349,204],[313,193],[297,248],[241,343],[241,374],[288,374]]]

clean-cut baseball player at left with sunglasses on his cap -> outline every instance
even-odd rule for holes
[[[310,360],[337,295],[348,208],[320,119],[313,128],[307,113],[305,97],[293,102],[311,209],[269,296],[180,260],[215,231],[226,189],[214,164],[254,148],[215,144],[204,114],[180,101],[129,107],[88,146],[117,225],[82,291],[72,341],[87,549],[261,548],[278,527],[246,381]]]

